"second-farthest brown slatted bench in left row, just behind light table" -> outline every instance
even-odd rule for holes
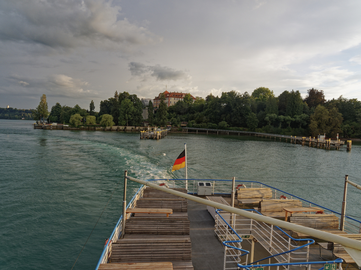
[[[173,213],[187,212],[188,201],[184,198],[140,198],[137,208],[171,208]]]

